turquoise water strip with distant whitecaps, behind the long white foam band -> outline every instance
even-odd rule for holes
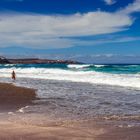
[[[113,74],[137,74],[140,73],[140,65],[67,65],[67,64],[6,64],[0,65],[3,68],[47,68],[62,69],[71,71],[96,71]]]

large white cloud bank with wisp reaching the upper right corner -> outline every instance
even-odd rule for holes
[[[130,14],[140,11],[136,4],[140,6],[140,0],[114,13],[96,11],[69,16],[1,13],[0,47],[72,47],[76,45],[76,40],[65,37],[100,35],[127,30],[134,22]]]

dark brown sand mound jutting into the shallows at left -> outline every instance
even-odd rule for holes
[[[0,83],[0,112],[15,111],[37,99],[35,90]]]

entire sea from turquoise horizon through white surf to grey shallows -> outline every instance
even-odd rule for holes
[[[1,64],[0,82],[36,89],[39,100],[23,106],[17,111],[21,114],[140,124],[140,65]]]

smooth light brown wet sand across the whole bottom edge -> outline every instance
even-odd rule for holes
[[[92,127],[91,127],[91,124]],[[119,128],[94,122],[36,126],[0,122],[1,140],[140,140],[140,127]]]

